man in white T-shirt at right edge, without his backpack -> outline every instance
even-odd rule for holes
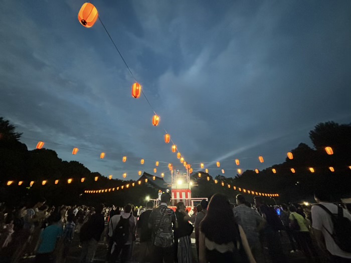
[[[325,206],[331,213],[337,214],[338,206],[330,202],[330,197],[326,188],[316,190],[314,192],[314,199],[317,203]],[[333,223],[330,215],[318,205],[312,206],[311,213],[313,234],[320,248],[326,254],[330,255],[330,261],[342,263],[351,262],[351,253],[341,250],[329,234],[333,232]],[[346,209],[343,209],[343,217],[351,220],[351,214]]]

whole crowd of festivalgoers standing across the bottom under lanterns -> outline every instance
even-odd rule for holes
[[[315,191],[315,200],[311,208],[269,206],[256,196],[252,205],[238,194],[236,204],[231,204],[217,193],[192,211],[183,202],[174,211],[165,192],[156,207],[153,201],[146,207],[49,207],[44,198],[14,209],[3,204],[0,262],[32,258],[64,263],[75,234],[80,239],[80,263],[93,261],[99,242],[105,242],[106,262],[286,262],[284,235],[290,253],[300,253],[306,262],[351,262],[351,200],[343,200],[341,207],[330,202],[323,189]]]

